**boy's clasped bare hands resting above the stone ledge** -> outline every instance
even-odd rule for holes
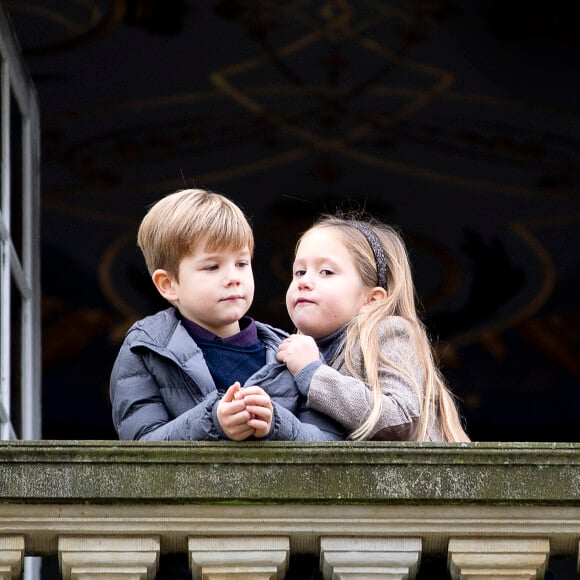
[[[220,426],[232,441],[266,437],[270,433],[272,416],[270,395],[258,386],[242,388],[239,382],[229,387],[217,407]]]

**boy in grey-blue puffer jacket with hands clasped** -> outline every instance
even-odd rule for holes
[[[152,206],[137,242],[171,306],[129,329],[113,366],[120,439],[344,439],[281,370],[287,334],[246,316],[254,237],[239,207],[202,189],[175,192]]]

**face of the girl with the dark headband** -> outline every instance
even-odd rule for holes
[[[300,332],[315,339],[333,333],[358,314],[368,293],[336,229],[313,229],[302,238],[286,293]]]

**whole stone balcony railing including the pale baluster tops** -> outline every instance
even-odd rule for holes
[[[0,444],[0,579],[56,556],[65,579],[543,578],[578,558],[580,444]],[[577,565],[576,565],[577,567]]]

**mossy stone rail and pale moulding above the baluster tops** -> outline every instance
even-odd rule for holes
[[[578,556],[580,444],[0,443],[0,529],[25,555],[61,538],[538,538]],[[405,541],[407,541],[405,540]]]

